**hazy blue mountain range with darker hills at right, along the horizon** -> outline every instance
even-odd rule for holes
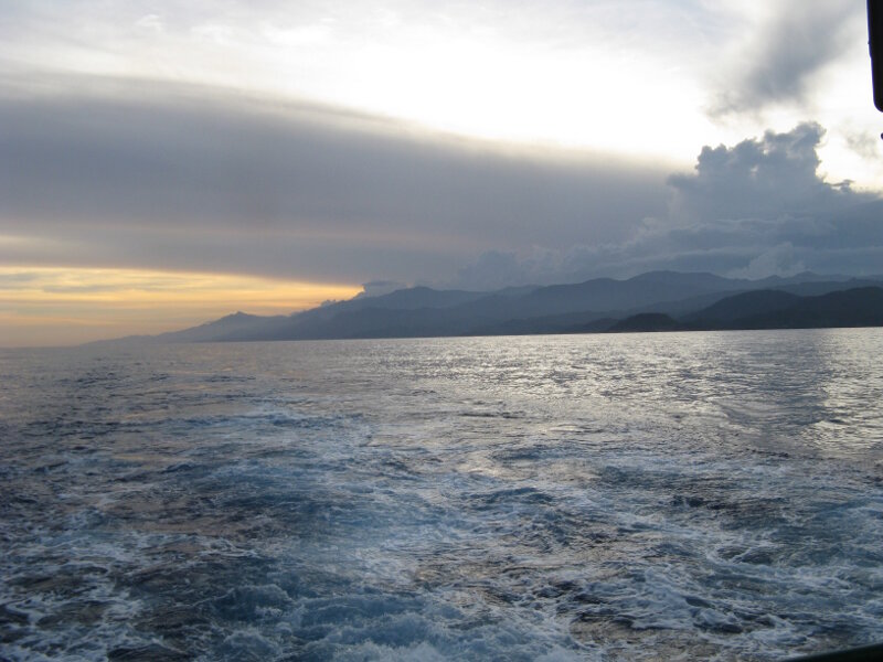
[[[400,289],[291,316],[236,312],[141,342],[226,342],[883,324],[883,276],[763,280],[652,271],[496,291]],[[119,342],[119,341],[111,341]]]

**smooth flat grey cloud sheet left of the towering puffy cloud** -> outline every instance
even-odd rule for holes
[[[664,206],[649,167],[216,90],[96,85],[0,88],[0,235],[28,239],[0,243],[0,259],[413,280],[496,246],[621,241]]]

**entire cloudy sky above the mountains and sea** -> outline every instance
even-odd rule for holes
[[[883,274],[864,10],[3,2],[0,346],[415,284]]]

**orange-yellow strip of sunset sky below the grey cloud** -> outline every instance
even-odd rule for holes
[[[0,267],[0,346],[71,345],[156,334],[236,311],[289,314],[361,286],[235,274]]]

